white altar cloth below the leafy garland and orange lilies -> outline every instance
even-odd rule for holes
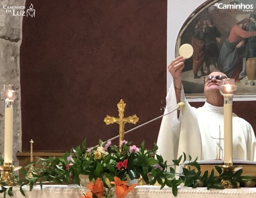
[[[29,186],[24,186],[23,190],[26,194],[24,197],[20,192],[20,187],[13,187],[13,198],[80,198],[83,193],[88,189],[86,187],[80,187],[78,185],[43,185],[41,190],[39,185],[33,187],[30,191]],[[241,188],[241,189],[224,189],[207,190],[204,187],[198,187],[197,189],[192,189],[191,187],[179,187],[177,198],[255,198],[256,188]],[[3,197],[3,193],[0,194]],[[6,194],[6,197],[9,197]],[[172,189],[164,187],[160,190],[159,186],[136,186],[133,192],[130,192],[126,198],[174,198],[172,194]]]

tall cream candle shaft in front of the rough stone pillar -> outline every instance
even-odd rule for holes
[[[13,108],[5,108],[4,163],[13,162]]]

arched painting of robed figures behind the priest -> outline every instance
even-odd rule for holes
[[[235,79],[235,97],[255,97],[255,31],[255,0],[212,0],[198,7],[176,41],[176,56],[183,44],[194,50],[182,71],[186,97],[203,97],[204,77],[215,70]]]

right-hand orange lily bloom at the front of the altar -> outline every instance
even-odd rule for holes
[[[114,176],[114,182],[111,183],[116,186],[116,198],[124,198],[136,186],[136,184],[128,186],[126,181],[121,181],[117,176]]]

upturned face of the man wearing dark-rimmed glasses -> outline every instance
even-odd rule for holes
[[[204,95],[208,97],[221,97],[222,95],[219,91],[222,79],[227,78],[225,74],[220,71],[211,72],[209,76],[206,76],[204,81]]]

